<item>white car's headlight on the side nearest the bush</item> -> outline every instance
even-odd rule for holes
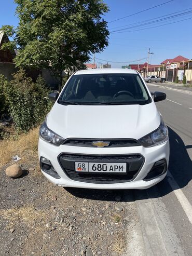
[[[43,125],[39,129],[39,137],[42,140],[45,140],[53,145],[59,146],[62,141],[64,140],[61,136],[59,136],[57,133],[54,133],[51,131],[46,123],[44,122]]]

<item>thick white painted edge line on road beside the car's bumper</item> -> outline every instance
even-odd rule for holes
[[[181,190],[181,188],[179,187],[177,182],[174,180],[170,171],[168,171],[167,178],[168,178],[168,182],[169,182],[175,196],[177,197],[183,210],[185,211],[185,213],[188,217],[188,220],[192,224],[192,206],[191,206],[191,204],[189,203],[187,197],[185,196],[185,194],[183,193],[183,191]]]

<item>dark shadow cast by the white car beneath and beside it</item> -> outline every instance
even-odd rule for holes
[[[192,161],[188,155],[187,149],[191,149],[192,145],[184,144],[181,137],[170,127],[170,160],[169,171],[180,188],[185,187],[192,179]],[[116,201],[120,196],[120,201],[134,201],[148,198],[158,198],[172,192],[168,178],[147,190],[93,190],[86,188],[64,188],[68,193],[79,198],[91,200]]]

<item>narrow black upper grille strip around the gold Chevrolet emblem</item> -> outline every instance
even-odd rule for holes
[[[125,146],[139,146],[139,142],[134,139],[66,139],[63,144],[68,146],[88,146],[93,147],[93,141],[109,141],[107,147],[125,147]]]

